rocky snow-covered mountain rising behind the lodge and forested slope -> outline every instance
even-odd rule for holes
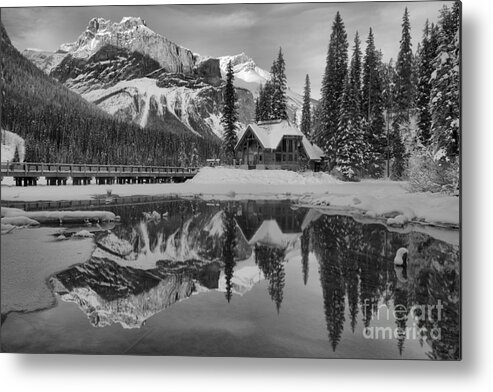
[[[254,97],[269,72],[245,53],[211,58],[151,30],[142,18],[90,20],[75,42],[56,52],[23,52],[38,68],[105,111],[141,126],[222,137],[226,66],[232,62],[240,127],[254,118]],[[288,89],[288,115],[299,121],[302,97]]]

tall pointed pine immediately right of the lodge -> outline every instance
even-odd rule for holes
[[[329,167],[334,166],[336,161],[340,103],[347,74],[347,50],[346,28],[337,12],[332,24],[315,130],[315,141],[325,151]]]

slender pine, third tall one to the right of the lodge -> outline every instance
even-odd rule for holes
[[[375,48],[373,30],[370,28],[363,63],[361,109],[366,145],[365,173],[372,177],[382,176],[387,147],[382,69],[380,55]]]

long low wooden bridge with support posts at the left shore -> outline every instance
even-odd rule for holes
[[[197,174],[198,167],[137,166],[137,165],[85,165],[72,163],[2,162],[0,172],[13,177],[17,186],[34,186],[41,177],[46,185],[96,184],[154,184],[184,182]]]

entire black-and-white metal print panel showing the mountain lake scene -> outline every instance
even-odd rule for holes
[[[461,358],[461,4],[4,8],[1,349]]]

